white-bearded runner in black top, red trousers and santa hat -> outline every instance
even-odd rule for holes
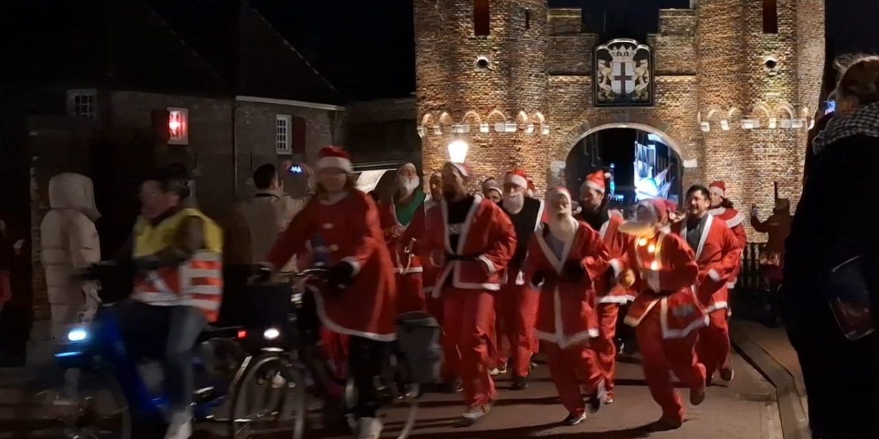
[[[534,335],[534,321],[537,319],[537,291],[525,282],[524,263],[528,242],[543,217],[543,202],[526,198],[527,175],[521,169],[514,169],[504,176],[504,198],[500,207],[512,221],[516,230],[516,252],[507,265],[498,294],[498,350],[501,338],[509,342],[509,351],[504,351],[498,366],[506,369],[507,356],[512,356],[512,390],[525,389],[528,372],[531,369],[531,356],[537,351],[537,338]],[[498,371],[499,372],[499,371]]]

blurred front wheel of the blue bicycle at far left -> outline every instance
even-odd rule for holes
[[[68,369],[64,378],[60,389],[42,393],[50,412],[61,421],[62,437],[131,438],[131,411],[125,393],[110,372]]]

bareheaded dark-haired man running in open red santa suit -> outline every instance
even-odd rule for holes
[[[715,371],[720,371],[724,381],[732,380],[734,375],[730,363],[727,282],[737,271],[742,248],[723,219],[708,213],[708,197],[704,186],[686,191],[686,218],[675,224],[673,231],[694,249],[699,264],[696,294],[710,320],[708,327],[701,329],[697,351],[710,383]]]

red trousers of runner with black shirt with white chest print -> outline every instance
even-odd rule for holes
[[[489,404],[497,397],[489,364],[495,354],[494,293],[445,288],[443,348],[452,370],[461,377],[470,407]]]

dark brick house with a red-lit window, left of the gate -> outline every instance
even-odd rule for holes
[[[207,16],[201,2],[165,0],[54,4],[50,15],[40,2],[22,6],[30,11],[12,28],[33,38],[4,47],[18,62],[0,83],[0,158],[10,169],[0,183],[15,188],[0,217],[30,235],[37,320],[48,317],[39,248],[51,176],[91,176],[102,253],[112,257],[149,169],[189,169],[196,202],[234,241],[232,208],[251,191],[253,169],[314,160],[341,139],[338,91],[245,0],[212,1]],[[178,131],[160,140],[172,122]]]

